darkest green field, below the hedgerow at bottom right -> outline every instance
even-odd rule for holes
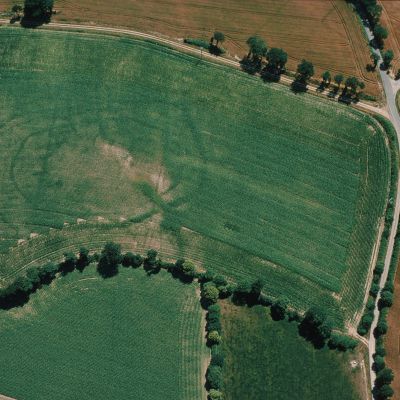
[[[362,354],[316,350],[295,323],[273,321],[262,306],[224,302],[222,310],[226,400],[369,398]]]

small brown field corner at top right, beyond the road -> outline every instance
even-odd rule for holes
[[[393,70],[400,68],[400,1],[380,0],[383,7],[381,23],[388,29],[389,37],[385,40],[385,48],[392,49],[394,59]]]

